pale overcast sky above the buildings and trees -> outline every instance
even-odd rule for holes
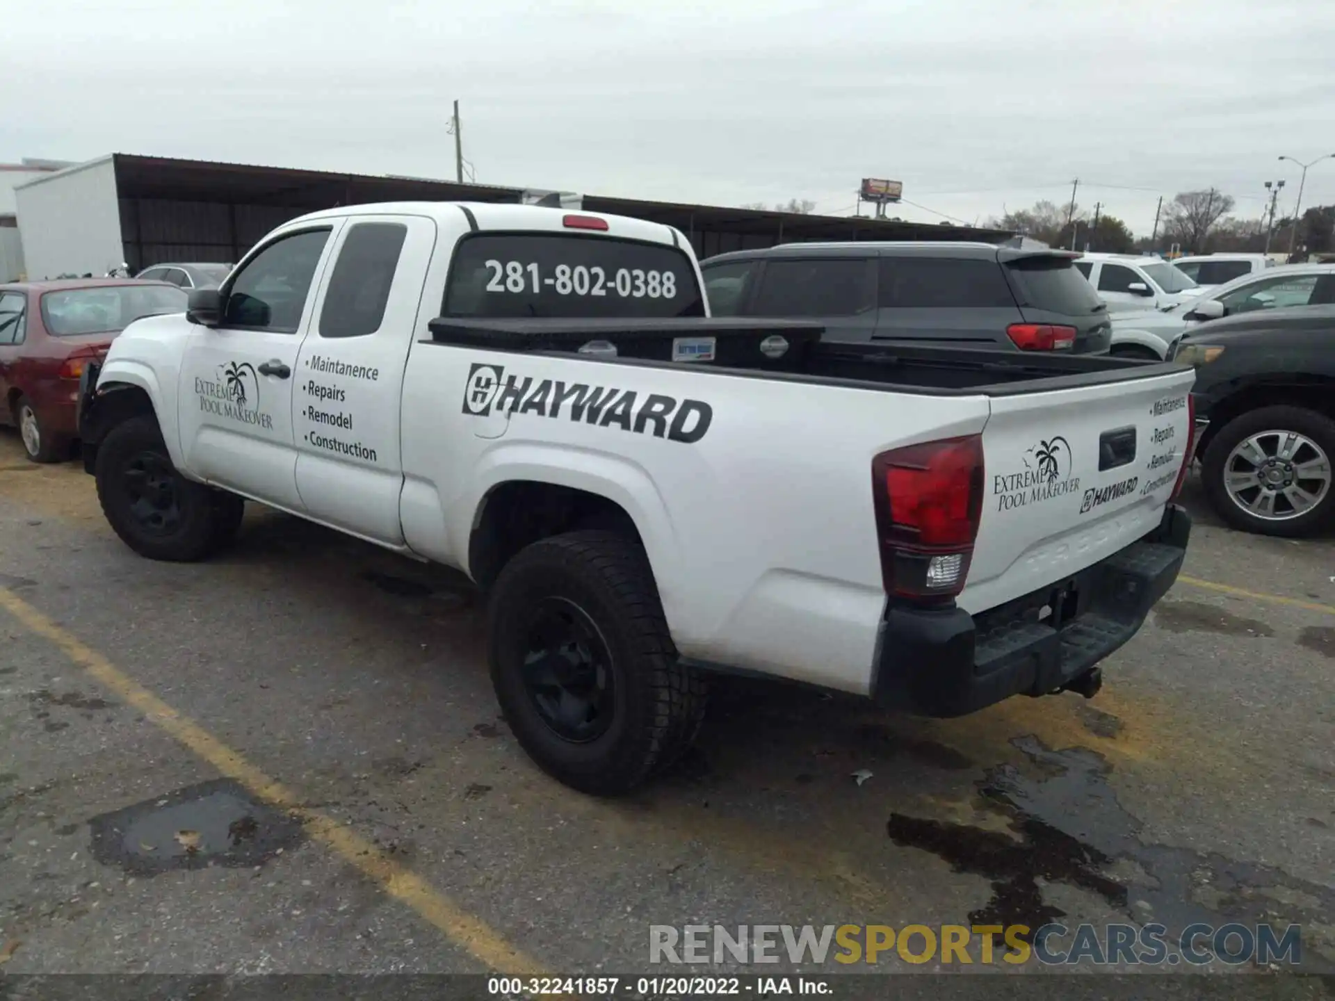
[[[482,183],[849,215],[876,176],[972,223],[1080,178],[1148,234],[1188,188],[1291,208],[1276,157],[1335,152],[1335,0],[43,0],[3,32],[8,161],[450,178],[459,99]]]

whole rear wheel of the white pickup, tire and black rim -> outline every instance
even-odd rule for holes
[[[694,739],[705,679],[677,658],[633,538],[573,531],[523,549],[491,589],[487,625],[506,722],[561,782],[626,793]]]

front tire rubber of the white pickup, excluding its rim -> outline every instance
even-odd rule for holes
[[[132,511],[125,472],[144,455],[166,463],[176,491],[179,522],[171,531],[151,530]],[[97,447],[95,475],[97,500],[107,522],[121,542],[148,559],[176,563],[204,559],[228,541],[240,523],[235,514],[239,505],[227,500],[227,494],[188,480],[175,470],[158,423],[150,416],[129,418],[107,432]]]

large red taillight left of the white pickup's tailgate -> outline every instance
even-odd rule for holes
[[[983,438],[948,438],[872,460],[885,590],[949,598],[964,590],[983,514]]]

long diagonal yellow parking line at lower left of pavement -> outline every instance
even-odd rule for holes
[[[224,775],[236,779],[252,794],[299,818],[307,833],[324,842],[343,858],[374,880],[391,897],[413,908],[489,969],[515,976],[542,976],[537,960],[501,937],[495,929],[477,918],[449,897],[430,886],[422,877],[388,858],[364,838],[339,825],[331,817],[300,805],[300,797],[251,765],[194,719],[182,715],[148,689],[123,674],[111,661],[85,646],[13,593],[0,589],[0,607],[33,633],[49,639],[65,657],[115,691],[151,722],[207,761]]]

